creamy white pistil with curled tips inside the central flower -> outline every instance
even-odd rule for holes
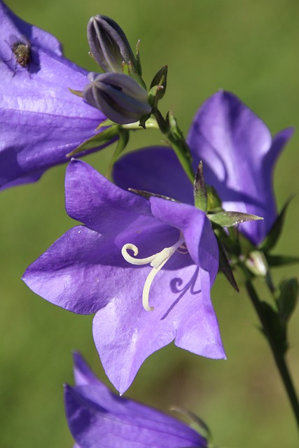
[[[169,260],[169,258],[174,254],[176,249],[178,249],[184,243],[185,240],[183,238],[180,238],[179,241],[176,241],[176,243],[173,246],[165,247],[164,249],[162,249],[162,251],[154,253],[150,257],[146,258],[134,258],[136,257],[136,255],[138,255],[138,248],[134,244],[127,243],[123,246],[121,250],[123,258],[125,258],[125,260],[129,262],[131,265],[149,264],[151,265],[151,267],[153,267],[153,269],[151,269],[151,272],[146,277],[146,281],[144,283],[144,289],[142,291],[142,304],[146,311],[153,311],[154,309],[154,307],[150,307],[148,303],[149,290],[151,288],[151,283],[153,283],[153,279],[155,278],[156,274],[158,274],[160,269],[162,269],[165,263]],[[129,255],[129,253],[127,253],[127,251],[129,250],[133,251],[134,257],[132,257],[132,255]]]

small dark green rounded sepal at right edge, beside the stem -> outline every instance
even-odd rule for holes
[[[286,279],[279,285],[277,307],[281,321],[287,323],[298,302],[298,279]]]

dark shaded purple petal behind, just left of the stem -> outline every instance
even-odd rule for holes
[[[141,148],[120,158],[113,179],[121,188],[134,188],[194,203],[193,185],[174,151],[166,146]]]

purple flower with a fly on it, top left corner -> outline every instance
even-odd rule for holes
[[[69,92],[84,89],[88,72],[62,55],[54,36],[1,0],[0,23],[0,187],[7,188],[68,162],[67,153],[94,136],[105,117]]]

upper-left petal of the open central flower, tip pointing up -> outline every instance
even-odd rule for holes
[[[113,185],[81,160],[71,160],[67,167],[65,190],[69,216],[111,236],[140,215],[151,216],[147,200]]]

